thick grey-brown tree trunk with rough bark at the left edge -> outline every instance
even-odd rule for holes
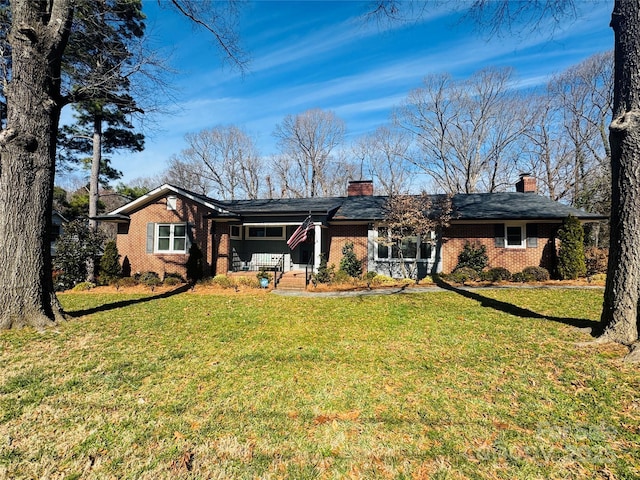
[[[62,318],[53,291],[49,230],[68,0],[11,3],[12,77],[0,132],[0,328]],[[44,11],[43,11],[44,10]]]

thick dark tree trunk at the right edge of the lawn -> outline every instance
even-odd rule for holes
[[[602,340],[638,340],[640,289],[640,3],[616,0],[611,143],[611,246]]]

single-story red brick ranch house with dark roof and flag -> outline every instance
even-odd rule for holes
[[[515,192],[454,195],[449,226],[430,238],[407,238],[404,258],[415,259],[419,277],[448,273],[465,243],[472,242],[486,246],[490,267],[551,269],[555,233],[567,216],[583,222],[604,217],[539,196],[535,189],[535,179],[523,176]],[[378,241],[386,201],[373,195],[371,181],[350,182],[344,197],[235,201],[165,184],[100,219],[118,223],[118,251],[134,273],[184,275],[192,243],[203,252],[205,275],[263,267],[312,271],[323,255],[338,265],[342,247],[352,242],[365,272],[399,276],[397,249]],[[308,217],[305,241],[291,249],[287,240]]]

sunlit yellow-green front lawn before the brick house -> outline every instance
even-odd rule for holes
[[[0,478],[639,478],[601,291],[465,295],[61,295],[0,333]]]

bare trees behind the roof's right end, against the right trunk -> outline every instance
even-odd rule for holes
[[[541,180],[541,193],[589,211],[609,209],[609,140],[613,57],[594,55],[554,77],[532,95],[534,121],[523,142],[526,169]]]

